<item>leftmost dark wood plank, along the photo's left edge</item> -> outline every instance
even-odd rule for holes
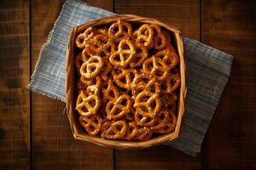
[[[29,1],[1,1],[0,22],[0,169],[29,169]]]

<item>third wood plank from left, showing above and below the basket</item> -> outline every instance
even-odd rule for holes
[[[119,0],[115,3],[118,14],[138,14],[154,17],[200,39],[199,1]],[[116,150],[117,169],[201,169],[201,155],[193,158],[169,146],[146,150]]]

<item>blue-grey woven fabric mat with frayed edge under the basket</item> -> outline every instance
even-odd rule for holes
[[[69,32],[74,26],[109,15],[113,13],[89,6],[80,0],[67,0],[41,49],[28,88],[65,102]],[[196,156],[230,77],[233,57],[188,37],[183,37],[183,41],[188,65],[185,116],[180,136],[167,144],[190,156]]]

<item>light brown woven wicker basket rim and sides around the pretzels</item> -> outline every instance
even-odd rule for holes
[[[178,111],[177,111],[177,126],[175,128],[175,131],[172,133],[163,134],[153,139],[149,139],[147,141],[108,140],[108,139],[102,139],[100,137],[90,136],[89,134],[85,133],[77,121],[76,112],[75,112],[75,100],[76,100],[76,95],[75,95],[76,82],[75,82],[75,66],[74,66],[75,37],[78,34],[78,32],[84,31],[86,28],[90,26],[101,26],[101,25],[111,24],[117,20],[125,20],[131,23],[132,22],[148,23],[148,24],[162,26],[166,28],[166,30],[170,31],[170,33],[172,34],[172,40],[174,39],[175,44],[173,43],[173,41],[172,43],[173,43],[173,46],[176,48],[177,54],[179,55],[179,59],[180,59],[179,68],[180,68],[180,76],[181,76],[181,87],[180,87]],[[116,148],[116,149],[143,149],[150,146],[159,145],[167,141],[171,141],[172,139],[176,139],[180,131],[181,122],[184,114],[184,100],[185,100],[186,91],[187,91],[185,78],[186,78],[186,65],[185,65],[185,60],[183,56],[183,39],[181,37],[181,33],[180,31],[177,31],[176,29],[160,22],[159,20],[154,20],[151,18],[131,15],[131,14],[119,14],[119,15],[102,18],[100,20],[93,20],[81,26],[74,27],[70,33],[68,48],[67,48],[67,83],[66,83],[67,116],[70,122],[71,130],[74,138],[88,141],[94,144],[106,146],[106,147]]]

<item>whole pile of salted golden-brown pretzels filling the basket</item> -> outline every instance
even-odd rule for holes
[[[103,139],[148,140],[177,125],[179,57],[160,26],[118,20],[75,38],[79,124]]]

